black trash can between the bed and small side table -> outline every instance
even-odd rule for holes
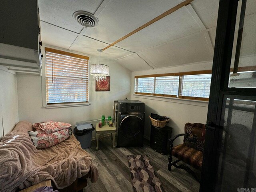
[[[91,146],[93,130],[95,130],[95,128],[90,123],[75,126],[74,136],[80,142],[83,149]]]

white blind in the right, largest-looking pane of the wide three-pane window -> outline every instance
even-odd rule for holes
[[[184,75],[180,96],[209,98],[211,74]]]

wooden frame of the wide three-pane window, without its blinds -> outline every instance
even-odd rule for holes
[[[190,72],[178,72],[178,73],[151,74],[151,75],[134,76],[135,80],[136,80],[136,78],[154,77],[155,78],[155,82],[156,82],[156,77],[179,76],[178,95],[135,92],[135,82],[134,82],[134,94],[150,95],[150,96],[163,96],[163,97],[189,99],[189,100],[209,101],[209,98],[191,97],[191,96],[182,96],[182,95],[180,95],[180,90],[182,89],[182,79],[183,79],[183,76],[185,76],[185,75],[201,75],[201,74],[212,74],[212,70],[201,70],[201,71],[190,71]]]

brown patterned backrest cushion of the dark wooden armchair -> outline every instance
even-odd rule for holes
[[[204,152],[205,125],[186,123],[183,143],[185,146]]]

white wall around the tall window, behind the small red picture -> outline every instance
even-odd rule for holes
[[[98,57],[90,56],[90,64],[98,62]],[[74,128],[76,122],[100,119],[103,114],[107,117],[113,116],[114,100],[130,96],[131,71],[114,61],[102,59],[101,63],[109,66],[110,91],[96,92],[95,81],[90,75],[89,106],[45,108],[42,106],[41,76],[17,74],[19,120],[28,120],[32,123],[46,120],[62,121],[72,124]],[[94,136],[95,132],[92,137]]]

